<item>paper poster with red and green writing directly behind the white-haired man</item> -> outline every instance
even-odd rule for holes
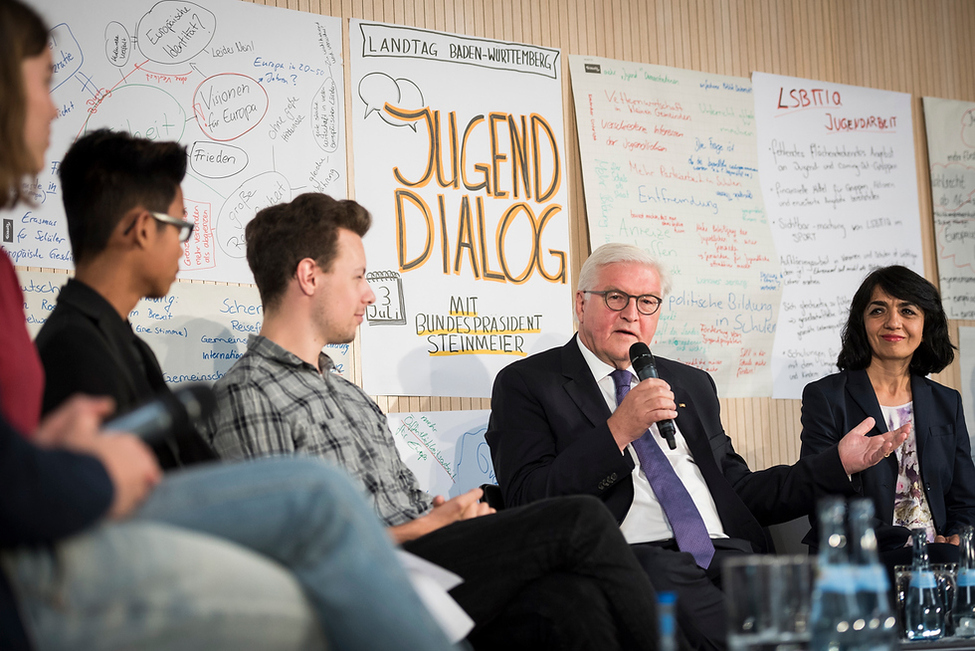
[[[591,246],[634,244],[672,276],[655,353],[708,371],[722,397],[771,395],[779,262],[751,82],[582,56],[569,70]]]

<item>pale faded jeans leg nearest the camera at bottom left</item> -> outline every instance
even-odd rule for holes
[[[277,563],[151,522],[5,554],[38,649],[314,649],[318,618]]]

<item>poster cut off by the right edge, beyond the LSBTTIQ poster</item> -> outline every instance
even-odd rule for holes
[[[975,319],[975,102],[924,98],[941,300]]]

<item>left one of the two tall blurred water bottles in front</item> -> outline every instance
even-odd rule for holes
[[[853,648],[853,624],[862,620],[850,565],[842,498],[819,502],[819,570],[813,585],[811,651]]]

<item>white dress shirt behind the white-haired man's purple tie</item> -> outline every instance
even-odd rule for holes
[[[576,338],[576,343],[578,343],[579,350],[582,351],[582,356],[589,365],[589,370],[596,379],[596,384],[599,385],[599,390],[603,394],[603,399],[610,411],[616,411],[616,383],[610,375],[616,369],[596,357],[591,350],[586,348],[582,340]],[[628,370],[633,376],[630,386],[636,386],[639,379],[632,368]],[[687,447],[687,441],[684,440],[676,422],[674,426],[677,430],[677,435],[674,437],[674,441],[677,443],[675,450],[671,450],[666,445],[664,438],[657,431],[656,423],[650,426],[651,437],[663,450],[667,460],[670,461],[670,465],[674,467],[674,471],[684,484],[684,488],[690,493],[691,499],[694,500],[697,510],[700,511],[701,517],[704,519],[708,534],[712,538],[727,538],[724,526],[721,524],[721,518],[718,517],[718,509],[711,497],[711,491],[708,490],[707,483],[704,481],[704,476],[694,462],[694,457],[691,456],[691,451]],[[647,480],[643,468],[640,467],[640,460],[637,458],[633,446],[626,446],[623,454],[629,454],[636,464],[633,468],[633,504],[630,505],[630,510],[627,511],[626,517],[620,525],[623,536],[630,544],[673,538],[674,532],[670,527],[670,522],[664,514],[663,507],[660,506],[660,502],[657,501],[657,496],[650,487],[650,482]]]

